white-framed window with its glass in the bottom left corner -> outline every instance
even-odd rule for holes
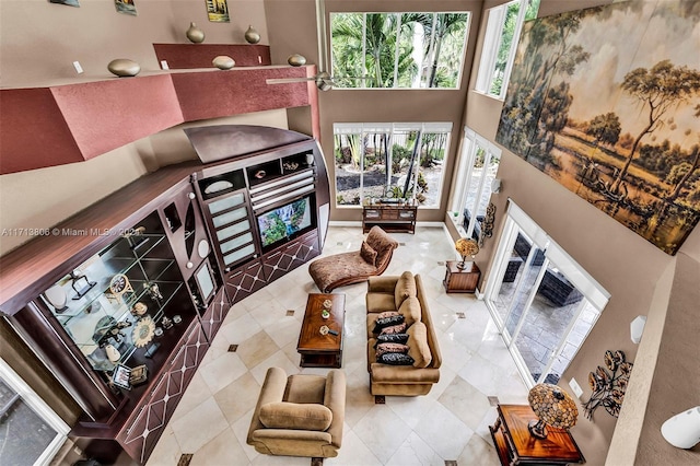
[[[0,464],[48,464],[69,428],[0,359]]]

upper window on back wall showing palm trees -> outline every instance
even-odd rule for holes
[[[330,13],[338,88],[459,86],[469,13]]]

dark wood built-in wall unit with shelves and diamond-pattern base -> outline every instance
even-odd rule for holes
[[[90,456],[145,463],[231,304],[320,254],[328,188],[308,137],[187,162],[2,257],[0,312],[83,410],[71,435]],[[144,338],[147,318],[159,331]],[[119,388],[119,366],[148,377]]]

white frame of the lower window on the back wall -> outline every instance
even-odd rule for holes
[[[438,199],[435,200],[435,203],[431,203],[431,205],[418,205],[418,207],[420,209],[433,209],[433,210],[438,210],[440,209],[440,205],[442,203],[442,191],[444,188],[444,183],[445,183],[445,165],[447,163],[447,160],[450,158],[450,144],[452,142],[452,129],[453,129],[453,124],[452,121],[430,121],[430,123],[335,123],[334,124],[334,191],[335,191],[335,206],[337,209],[357,209],[357,208],[362,208],[365,203],[365,200],[369,198],[368,196],[365,196],[364,194],[364,179],[363,179],[363,174],[364,174],[364,167],[365,167],[365,153],[364,153],[364,144],[360,144],[360,160],[359,160],[359,174],[360,174],[360,185],[359,185],[359,189],[360,189],[360,200],[359,203],[354,205],[354,203],[350,203],[350,205],[346,205],[346,203],[338,203],[338,182],[337,182],[337,165],[336,165],[336,161],[335,161],[335,154],[336,154],[336,136],[341,135],[341,133],[359,133],[360,135],[360,140],[364,139],[364,136],[366,133],[375,133],[378,132],[380,130],[386,131],[386,133],[389,137],[389,144],[388,144],[388,160],[389,160],[389,164],[392,163],[393,160],[393,150],[394,150],[394,144],[395,144],[395,139],[394,136],[396,133],[402,133],[404,131],[419,131],[419,137],[416,139],[415,144],[417,144],[419,148],[422,145],[423,143],[423,135],[425,132],[429,133],[438,133],[438,132],[444,132],[446,133],[446,138],[445,138],[445,143],[444,143],[444,152],[443,152],[443,160],[442,160],[442,170],[440,173],[440,182],[439,182],[439,186],[438,186]],[[366,132],[365,132],[366,130]],[[418,186],[418,176],[419,176],[419,172],[420,172],[420,153],[419,156],[417,158],[416,162],[415,162],[416,168],[412,171],[411,174],[411,184],[413,186],[413,191],[412,191],[412,196],[411,196],[411,200],[416,199],[416,186]],[[386,170],[386,168],[385,168]],[[373,197],[373,196],[370,196]]]

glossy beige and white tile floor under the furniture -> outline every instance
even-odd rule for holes
[[[498,465],[488,429],[497,413],[488,396],[526,404],[525,385],[483,302],[445,293],[444,260],[455,258],[445,230],[418,228],[415,235],[394,237],[400,246],[385,275],[411,270],[423,278],[443,357],[440,383],[427,396],[387,396],[385,405],[375,405],[365,364],[366,284],[337,289],[347,300],[346,424],[340,454],[325,464]],[[357,251],[362,240],[359,228],[331,226],[324,255]],[[148,466],[175,466],[183,454],[192,454],[192,466],[310,465],[308,458],[258,454],[245,443],[268,368],[326,372],[299,366],[296,339],[310,292],[318,290],[303,266],[231,307]],[[238,345],[237,351],[229,352],[230,345]]]

